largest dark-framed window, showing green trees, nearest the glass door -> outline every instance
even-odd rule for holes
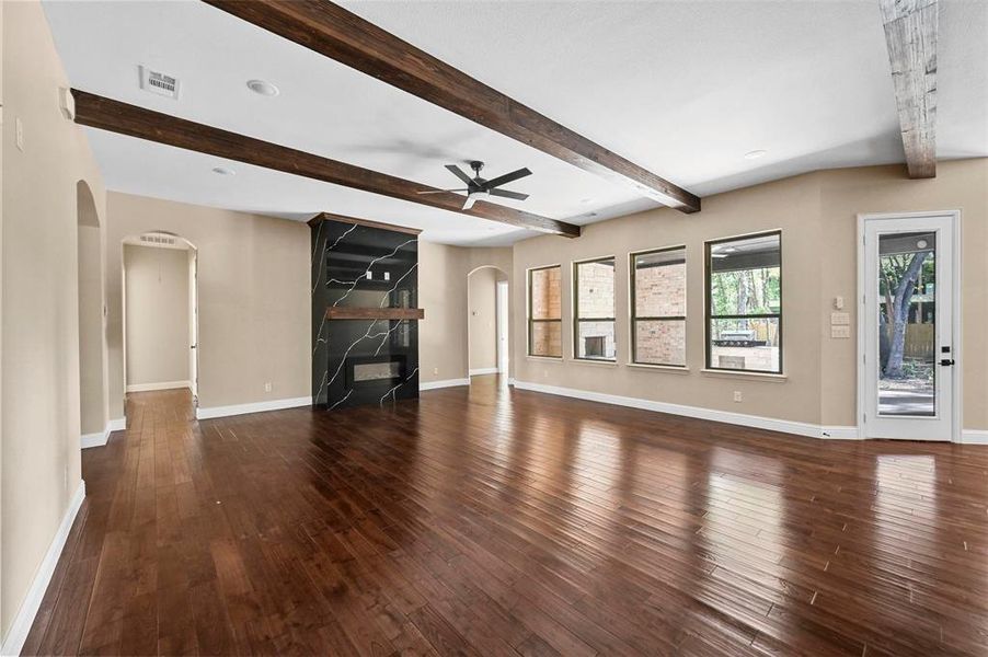
[[[706,367],[782,373],[782,234],[706,243]]]

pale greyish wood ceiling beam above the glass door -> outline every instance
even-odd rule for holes
[[[880,0],[909,177],[937,176],[937,0]]]

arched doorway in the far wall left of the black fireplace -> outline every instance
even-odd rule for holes
[[[124,238],[124,390],[188,389],[198,401],[198,250],[172,232]]]

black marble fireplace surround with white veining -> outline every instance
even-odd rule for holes
[[[418,306],[418,238],[320,215],[312,244],[312,400],[328,410],[418,396],[414,319],[337,319]],[[353,312],[347,312],[353,311]]]

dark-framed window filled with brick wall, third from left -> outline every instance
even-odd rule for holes
[[[631,254],[631,361],[686,367],[686,247]]]

